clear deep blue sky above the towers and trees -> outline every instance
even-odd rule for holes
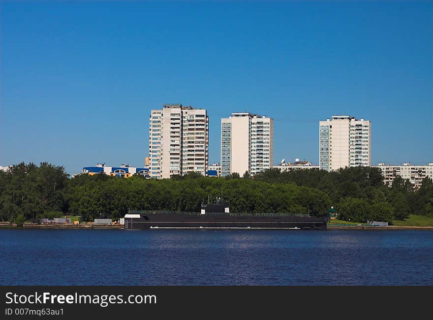
[[[433,161],[432,1],[2,2],[0,165],[148,155],[164,103],[275,119],[274,162],[318,163],[318,122],[372,122],[372,163]]]

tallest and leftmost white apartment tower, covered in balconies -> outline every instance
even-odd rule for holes
[[[209,117],[204,109],[163,105],[152,110],[149,129],[149,174],[164,179],[195,171],[206,175]]]

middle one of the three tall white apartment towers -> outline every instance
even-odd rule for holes
[[[249,112],[221,119],[221,176],[250,175],[273,166],[274,120]]]

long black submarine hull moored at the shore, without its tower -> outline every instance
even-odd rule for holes
[[[124,229],[307,229],[325,230],[323,218],[212,214],[127,214]]]

